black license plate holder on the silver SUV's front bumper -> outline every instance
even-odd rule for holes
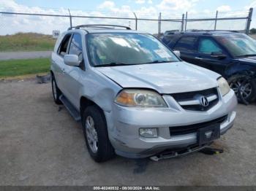
[[[197,143],[199,145],[206,144],[208,142],[219,139],[220,137],[220,125],[208,125],[205,128],[200,128],[197,130]]]

